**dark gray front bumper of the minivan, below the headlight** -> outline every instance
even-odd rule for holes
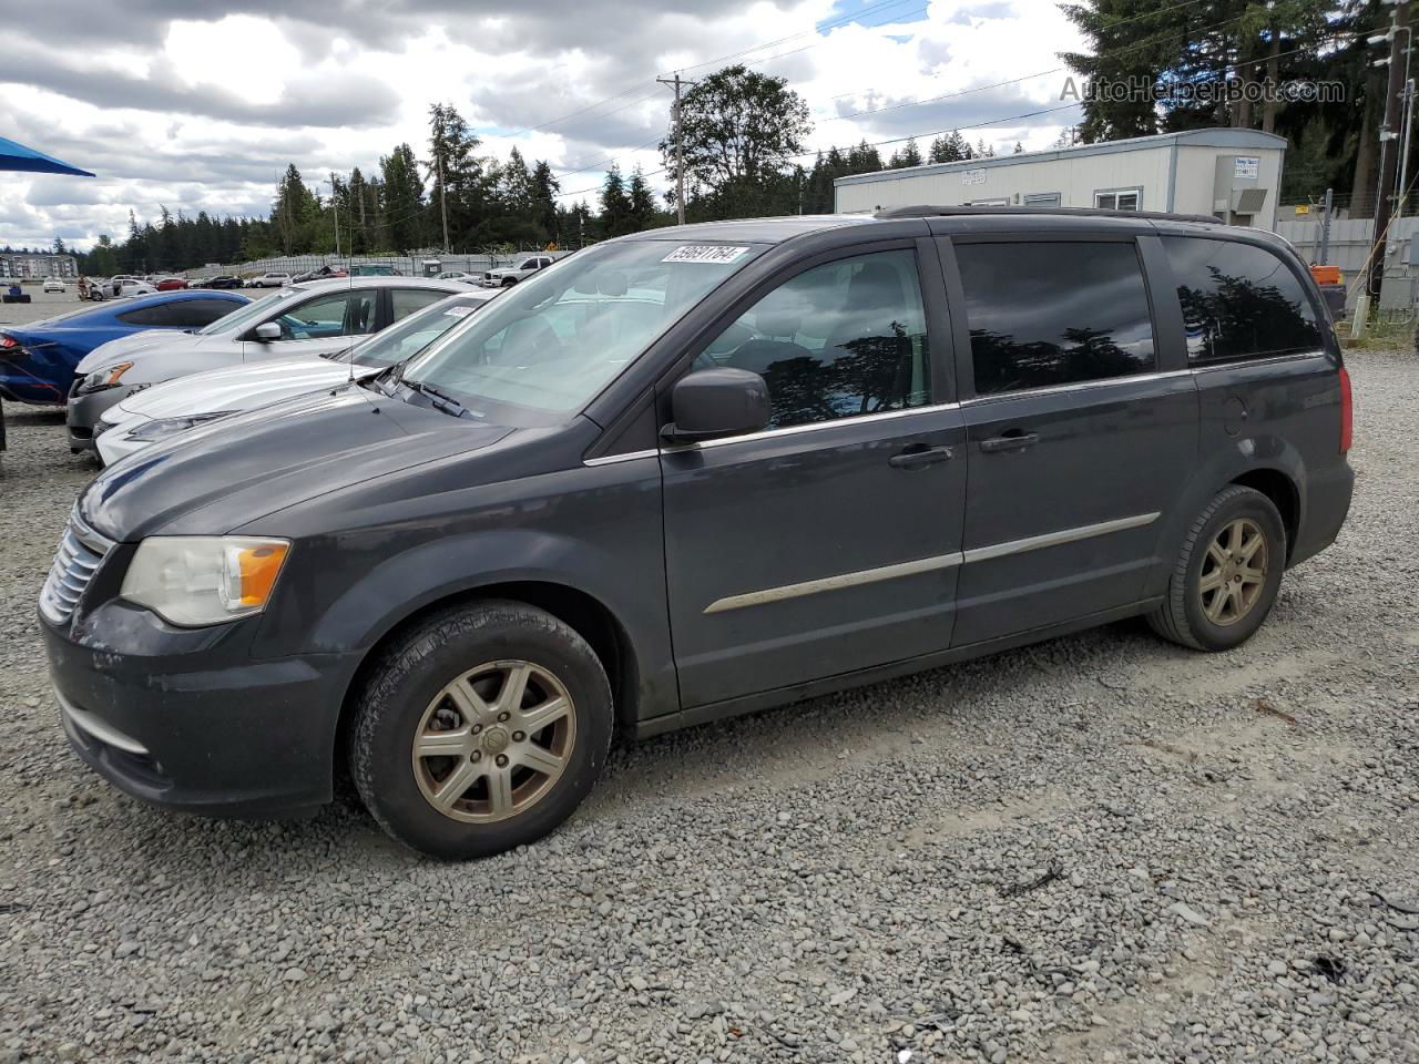
[[[119,790],[236,817],[331,800],[358,655],[258,661],[250,621],[175,628],[122,602],[81,617],[78,634],[43,617],[40,627],[70,745]]]

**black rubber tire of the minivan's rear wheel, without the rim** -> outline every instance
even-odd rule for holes
[[[1199,586],[1208,548],[1237,519],[1250,519],[1264,536],[1266,575],[1246,613],[1232,623],[1218,624],[1203,610]],[[1149,627],[1164,638],[1193,650],[1230,650],[1246,643],[1261,627],[1276,603],[1286,569],[1286,525],[1276,504],[1261,492],[1237,484],[1223,488],[1188,528],[1178,563],[1168,580],[1166,597],[1148,616]]]

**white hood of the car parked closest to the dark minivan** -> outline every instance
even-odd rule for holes
[[[373,373],[369,366],[355,366],[355,376]],[[135,392],[118,404],[118,417],[133,419],[189,417],[217,411],[253,410],[258,406],[304,396],[308,392],[338,387],[350,377],[346,362],[302,355],[272,362],[255,362],[207,373],[193,373],[163,384]]]

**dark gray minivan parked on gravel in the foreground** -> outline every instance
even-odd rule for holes
[[[79,498],[40,616],[131,794],[331,800],[440,857],[650,735],[1144,614],[1226,650],[1349,506],[1349,383],[1269,233],[898,209],[666,228]]]

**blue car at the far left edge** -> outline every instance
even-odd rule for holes
[[[64,406],[74,367],[98,345],[148,329],[200,329],[248,302],[240,292],[159,292],[0,326],[0,399]]]

